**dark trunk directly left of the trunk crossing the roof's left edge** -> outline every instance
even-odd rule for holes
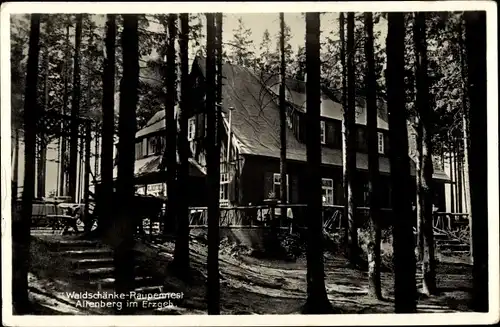
[[[181,101],[179,113],[179,176],[178,176],[178,207],[177,207],[177,238],[175,241],[174,266],[180,277],[189,274],[189,209],[187,189],[189,182],[189,143],[188,110],[189,110],[189,14],[180,14],[179,55],[181,69]]]

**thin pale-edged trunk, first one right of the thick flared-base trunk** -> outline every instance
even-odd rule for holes
[[[348,170],[347,170],[347,130],[349,115],[347,112],[347,64],[345,55],[345,20],[344,13],[339,14],[339,24],[340,24],[340,61],[342,63],[342,110],[344,111],[344,119],[342,122],[342,181],[344,190],[344,213],[342,215],[342,230],[343,230],[343,243],[346,249],[349,248],[349,210],[347,205],[348,193],[347,185],[349,184]]]

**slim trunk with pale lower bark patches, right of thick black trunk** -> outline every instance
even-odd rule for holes
[[[417,110],[420,115],[420,128],[422,159],[420,171],[419,193],[422,200],[419,221],[422,222],[419,230],[420,258],[422,260],[422,292],[426,295],[436,293],[436,261],[434,257],[434,231],[433,231],[433,200],[432,175],[432,134],[434,131],[433,111],[429,103],[429,82],[427,77],[427,38],[425,33],[425,12],[417,12],[413,23],[413,37],[416,55],[416,85],[417,85]],[[420,233],[422,236],[420,236]],[[422,243],[423,241],[423,243]]]

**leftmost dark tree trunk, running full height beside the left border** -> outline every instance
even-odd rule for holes
[[[24,182],[22,212],[12,222],[12,303],[13,314],[30,313],[28,269],[30,266],[30,227],[35,196],[36,125],[40,119],[37,100],[38,56],[40,53],[40,15],[31,15],[31,28],[24,97]],[[15,216],[17,217],[17,216]]]

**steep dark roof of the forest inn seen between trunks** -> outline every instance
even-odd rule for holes
[[[205,60],[198,57],[195,60],[201,68],[201,72],[205,74]],[[229,107],[233,107],[232,126],[233,136],[237,142],[242,154],[267,156],[279,158],[280,156],[280,121],[279,121],[279,106],[275,94],[269,90],[262,78],[245,67],[224,63],[222,68],[224,76],[224,85],[222,87],[222,110],[225,114]],[[294,81],[287,81],[290,86]],[[273,84],[272,79],[268,79],[267,84]],[[295,81],[296,86],[291,85],[294,91],[304,89],[304,82]],[[305,99],[302,92],[296,92],[297,101]],[[328,101],[329,106],[332,106],[332,112],[338,115],[338,110],[341,106],[338,102],[331,98],[324,97]],[[364,101],[362,102],[364,105]],[[383,104],[385,108],[385,104]],[[380,121],[387,124],[379,114]],[[341,119],[341,115],[337,119]],[[362,121],[361,121],[362,123]],[[380,125],[379,125],[380,126]],[[380,126],[383,128],[383,126]],[[287,159],[306,161],[306,146],[299,142],[293,135],[292,131],[287,129]],[[342,166],[342,150],[322,147],[322,163],[326,165]],[[380,171],[383,173],[390,172],[389,159],[387,157],[379,158]],[[357,153],[356,167],[358,169],[368,169],[368,155]],[[415,165],[411,165],[412,174],[415,172]],[[440,170],[435,171],[434,177],[437,179],[448,179],[448,176]]]

